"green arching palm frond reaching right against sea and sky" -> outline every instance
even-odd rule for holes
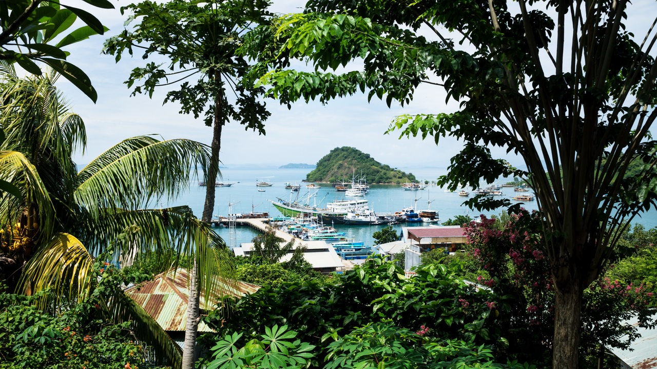
[[[78,173],[74,198],[95,217],[104,208],[139,209],[162,198],[171,200],[196,176],[193,168],[206,167],[209,158],[209,147],[199,142],[133,137]]]

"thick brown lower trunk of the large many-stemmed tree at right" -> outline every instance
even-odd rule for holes
[[[552,354],[552,367],[555,369],[578,368],[582,292],[579,278],[575,276],[556,288]]]

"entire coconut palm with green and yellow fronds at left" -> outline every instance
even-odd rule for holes
[[[101,253],[111,252],[110,261],[119,262],[168,248],[188,256],[188,269],[198,267],[206,295],[233,288],[231,278],[217,278],[231,277],[233,267],[208,224],[187,206],[147,208],[175,198],[197,165],[207,167],[208,146],[133,137],[78,171],[72,153],[85,147],[84,123],[62,103],[56,79],[55,74],[20,79],[11,66],[0,68],[0,128],[6,136],[0,142],[0,180],[20,190],[20,196],[0,197],[0,256],[20,267],[18,290],[50,288],[42,307],[66,309],[89,294],[93,262]],[[173,260],[173,267],[178,263]],[[125,299],[110,303],[108,311],[146,318],[136,304],[126,307]],[[156,324],[144,324],[143,334],[165,341],[163,331],[154,332]],[[165,346],[162,352],[179,366],[180,350],[171,342]]]

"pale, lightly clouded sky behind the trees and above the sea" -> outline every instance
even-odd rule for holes
[[[179,114],[176,103],[163,104],[165,89],[156,90],[152,98],[131,97],[124,81],[145,60],[126,54],[116,63],[114,56],[101,53],[104,40],[124,29],[127,17],[119,9],[131,1],[112,0],[112,3],[116,9],[90,10],[110,30],[67,49],[71,53],[68,60],[91,78],[98,92],[97,102],[94,104],[64,78],[57,84],[87,128],[87,149],[84,154],[74,156],[76,163],[88,163],[113,144],[137,135],[156,133],[164,139],[192,139],[210,144],[212,128],[204,125],[202,117],[194,119]],[[273,0],[270,10],[299,12],[304,4],[304,0]],[[657,12],[653,1],[646,4],[650,7],[647,14]],[[82,3],[79,7],[85,6]],[[351,146],[392,167],[447,167],[449,159],[461,149],[455,139],[442,139],[437,146],[431,137],[400,139],[399,131],[385,134],[399,114],[435,114],[458,108],[456,102],[445,104],[445,92],[440,87],[422,85],[414,95],[411,104],[402,107],[393,102],[391,108],[376,98],[367,102],[365,95],[332,100],[325,105],[300,101],[289,110],[275,100],[267,100],[271,116],[265,121],[266,135],[245,131],[237,122],[228,123],[222,133],[220,160],[225,167],[314,164],[333,148]],[[506,156],[504,150],[493,150],[493,154],[506,158],[512,165],[522,166],[522,160]]]

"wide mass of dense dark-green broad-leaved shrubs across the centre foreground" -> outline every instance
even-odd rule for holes
[[[298,332],[300,341],[317,346],[313,351],[314,367],[329,365],[333,360],[339,361],[330,365],[357,361],[349,357],[346,346],[342,345],[353,343],[350,334],[365,337],[373,329],[387,334],[392,330],[402,332],[401,336],[389,337],[390,344],[395,347],[410,344],[410,341],[405,343],[405,335],[409,332],[424,332],[426,337],[435,340],[433,342],[454,340],[455,346],[463,344],[462,348],[468,347],[473,355],[480,349],[482,353],[492,350],[496,362],[504,362],[517,354],[505,350],[507,339],[500,336],[498,328],[500,316],[510,317],[504,299],[464,283],[457,278],[455,270],[444,265],[428,265],[416,272],[412,278],[406,278],[403,269],[393,263],[380,258],[368,259],[362,266],[334,277],[333,284],[321,286],[309,281],[292,282],[278,288],[263,286],[237,301],[229,320],[221,320],[219,309],[211,312],[207,321],[220,336],[243,332],[238,345],[258,337],[265,327],[286,325]],[[388,325],[378,325],[381,322]],[[370,323],[373,326],[367,326]],[[343,335],[344,340],[340,338]],[[212,336],[204,339],[215,341]],[[374,337],[372,339],[371,350],[390,350],[389,341],[384,337],[376,341],[376,346]],[[419,336],[411,341],[419,343]],[[365,345],[361,356],[365,355],[363,360],[367,361],[365,357],[373,351]],[[429,345],[435,345],[436,350],[442,346],[440,343]],[[480,345],[489,346],[484,349]],[[449,360],[460,354],[467,357],[468,350],[455,349],[449,354],[454,355]],[[486,361],[492,360],[487,358]]]

